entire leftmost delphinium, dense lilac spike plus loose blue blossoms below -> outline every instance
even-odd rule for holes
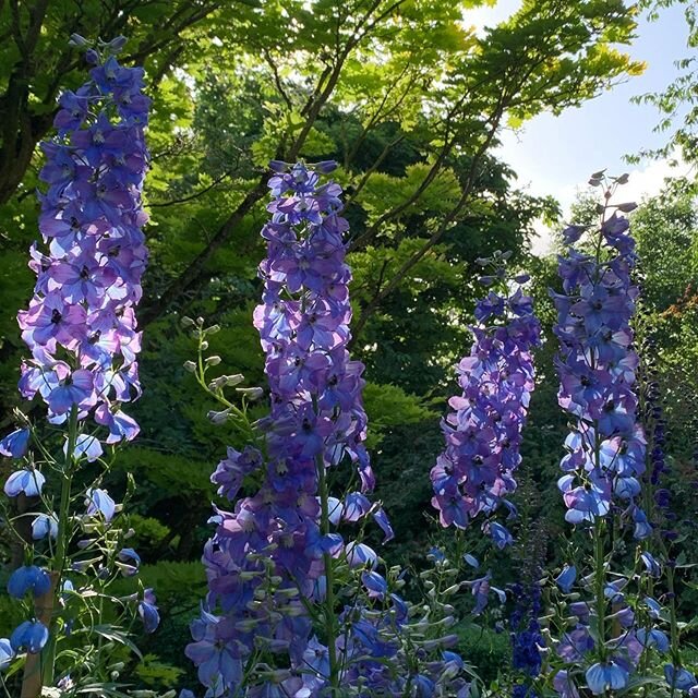
[[[61,95],[55,118],[58,139],[41,144],[47,161],[39,178],[48,190],[40,195],[39,229],[47,249],[41,252],[34,244],[31,250],[29,266],[37,281],[28,309],[19,313],[19,323],[32,356],[22,364],[20,392],[27,399],[39,395],[48,406],[48,421],[64,424],[64,456],[49,458],[52,446],[41,444],[23,416],[25,424],[0,442],[0,454],[23,462],[4,484],[9,497],[24,495],[28,507],[41,497],[50,508],[53,497],[44,492],[47,469],[60,473],[62,494],[58,512],[21,510],[34,516],[31,540],[25,541],[26,558],[44,559],[46,568],[36,564],[20,567],[10,577],[8,591],[17,600],[27,595],[45,599],[36,604],[36,618],[22,623],[9,643],[0,640],[2,665],[16,652],[40,652],[49,641],[47,625],[58,624],[51,618],[53,600],[46,598],[56,595],[56,603],[68,614],[76,605],[71,599],[79,599],[82,589],[65,573],[77,529],[87,538],[77,543],[82,558],[72,557],[70,569],[75,575],[94,571],[104,586],[110,576],[134,575],[140,564],[132,549],[115,547],[124,538],[121,532],[107,532],[118,507],[105,490],[88,486],[84,514],[72,517],[69,512],[75,467],[97,460],[103,441],[130,441],[139,432],[135,421],[121,411],[121,404],[140,395],[136,354],[141,337],[134,306],[141,298],[147,260],[141,192],[148,160],[144,127],[149,99],[142,93],[143,69],[123,68],[113,56],[124,41],[119,37],[101,43],[106,60],[95,49],[87,51],[91,79],[76,92]],[[87,45],[76,36],[73,43]],[[87,428],[89,414],[106,428],[106,436]],[[27,455],[32,438],[45,458]],[[96,555],[107,550],[106,557]],[[106,558],[111,569],[103,566]],[[41,614],[40,607],[48,612]],[[137,607],[146,629],[154,630],[158,614],[151,590]],[[73,624],[74,618],[63,624],[65,634]]]

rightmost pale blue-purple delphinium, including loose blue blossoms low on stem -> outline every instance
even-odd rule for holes
[[[606,198],[610,195],[611,191]],[[552,293],[558,312],[554,329],[561,344],[558,401],[575,421],[565,442],[567,453],[561,464],[565,474],[558,488],[567,507],[566,520],[594,524],[597,550],[592,574],[579,579],[593,601],[567,597],[577,581],[576,566],[566,565],[555,579],[570,613],[555,646],[557,655],[569,665],[554,679],[563,698],[579,696],[576,666],[587,666],[583,678],[592,695],[605,695],[628,685],[646,652],[669,650],[666,635],[652,627],[660,618],[657,601],[646,597],[634,602],[628,594],[629,578],[616,574],[610,578],[603,553],[606,517],[630,521],[638,540],[652,532],[638,505],[647,449],[633,389],[639,363],[630,328],[638,296],[630,279],[635,242],[628,220],[617,212],[602,221],[590,240],[593,255],[574,249],[585,230],[570,226],[564,231],[568,249],[558,266],[564,293]],[[649,552],[641,553],[639,563],[639,578],[661,575],[660,564]],[[640,616],[648,622],[638,623]]]

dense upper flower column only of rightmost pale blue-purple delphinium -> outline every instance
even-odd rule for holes
[[[570,524],[605,517],[615,496],[635,525],[635,537],[643,539],[652,529],[636,504],[646,438],[633,390],[638,366],[630,328],[638,296],[630,279],[635,241],[627,218],[614,213],[601,226],[594,257],[573,246],[583,230],[565,230],[568,251],[558,267],[564,293],[553,293],[561,344],[558,401],[576,422],[565,442],[558,488]]]

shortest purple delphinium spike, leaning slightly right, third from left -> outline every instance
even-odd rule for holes
[[[506,287],[503,266],[494,277],[483,277],[485,284],[495,279]],[[432,504],[442,525],[464,529],[482,513],[483,529],[500,549],[512,534],[490,517],[502,504],[514,514],[506,497],[516,490],[521,430],[534,387],[531,350],[540,341],[531,299],[520,286],[509,291],[490,291],[476,306],[474,342],[457,368],[462,395],[448,401],[455,411],[442,424],[446,449],[431,471]]]

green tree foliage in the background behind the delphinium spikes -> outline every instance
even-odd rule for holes
[[[137,445],[105,473],[104,484],[121,496],[129,476],[139,482],[130,500],[135,514],[123,520],[135,530],[143,559],[154,563],[143,566],[142,578],[158,589],[164,609],[160,639],[140,638],[154,659],[149,669],[137,671],[157,678],[158,690],[165,689],[160,679],[172,677],[168,667],[182,667],[184,626],[204,591],[201,566],[191,561],[210,533],[209,502],[220,504],[209,476],[226,445],[245,443],[230,424],[206,419],[217,408],[182,369],[190,338],[179,315],[201,315],[219,325],[220,332],[209,337],[210,351],[230,373],[244,374],[250,385],[262,384],[263,353],[251,318],[260,294],[256,266],[264,249],[257,233],[266,215],[270,158],[340,163],[336,177],[347,191],[352,231],[347,257],[354,275],[351,350],[366,365],[376,497],[397,533],[383,551],[387,565],[423,569],[434,524],[425,474],[443,446],[438,421],[456,389],[453,365],[471,344],[468,325],[479,294],[476,260],[508,249],[512,264],[531,273],[546,341],[535,353],[538,385],[513,500],[521,509],[530,505],[531,518],[547,532],[541,555],[562,566],[565,551],[556,541],[566,524],[555,479],[566,424],[554,407],[554,309],[547,297],[549,287],[559,287],[554,262],[531,258],[528,252],[535,220],[554,219],[558,210],[554,201],[517,189],[515,172],[497,159],[495,147],[505,124],[517,127],[538,112],[577,106],[637,74],[641,65],[619,52],[634,38],[637,11],[616,0],[531,1],[498,26],[474,31],[469,10],[480,4],[0,3],[0,34],[8,38],[0,47],[0,401],[5,426],[12,408],[28,411],[14,387],[25,354],[14,313],[25,305],[34,281],[25,251],[37,230],[31,193],[43,161],[35,145],[50,127],[56,95],[79,84],[80,58],[67,36],[128,34],[124,60],[143,62],[152,85],[152,168],[145,192],[151,266],[140,361],[144,395],[133,409],[142,432]],[[672,111],[693,99],[691,80],[667,93],[662,106]],[[686,157],[691,130],[689,120],[679,139]],[[677,529],[689,559],[698,553],[688,521],[695,510],[690,458],[696,429],[689,416],[698,395],[694,214],[686,185],[640,206],[633,221],[642,260],[646,325],[665,396],[673,469],[667,482],[677,508],[686,512]],[[251,404],[250,421],[264,411],[263,405]],[[469,535],[467,547],[482,556],[479,531]],[[435,539],[445,545],[448,533]],[[372,544],[377,540],[369,534]],[[2,551],[12,554],[7,540]],[[505,586],[519,563],[504,556],[493,566],[497,583]],[[678,575],[679,607],[688,615],[698,607],[695,592],[683,586],[691,575],[691,568]],[[459,602],[461,595],[470,601],[464,593]],[[497,662],[506,673],[506,633],[492,636],[493,653],[490,639],[479,645],[472,628],[462,635],[458,651],[489,681],[497,678]],[[133,671],[130,664],[122,676],[139,684]],[[191,685],[191,673],[188,679]],[[498,686],[500,693],[510,688],[505,681]]]

